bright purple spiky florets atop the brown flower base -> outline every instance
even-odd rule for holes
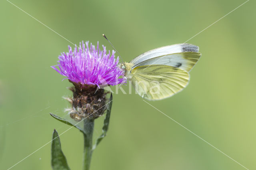
[[[97,85],[105,87],[107,85],[124,84],[124,78],[118,78],[123,76],[122,70],[118,67],[118,57],[115,59],[114,50],[112,55],[110,51],[106,53],[106,47],[102,45],[103,51],[99,49],[99,43],[97,43],[97,49],[95,46],[88,45],[86,47],[84,42],[80,47],[75,47],[74,51],[68,46],[68,53],[62,53],[58,58],[58,65],[51,66],[61,75],[66,76],[72,82],[79,83],[81,85]],[[59,67],[59,69],[56,68]]]

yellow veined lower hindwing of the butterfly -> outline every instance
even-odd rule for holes
[[[142,65],[131,71],[136,92],[148,100],[171,97],[188,85],[187,71],[169,65]]]

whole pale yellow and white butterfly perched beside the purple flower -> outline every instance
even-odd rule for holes
[[[182,91],[189,71],[201,56],[198,46],[174,44],[145,52],[129,63],[120,64],[136,92],[148,100],[161,100]]]

